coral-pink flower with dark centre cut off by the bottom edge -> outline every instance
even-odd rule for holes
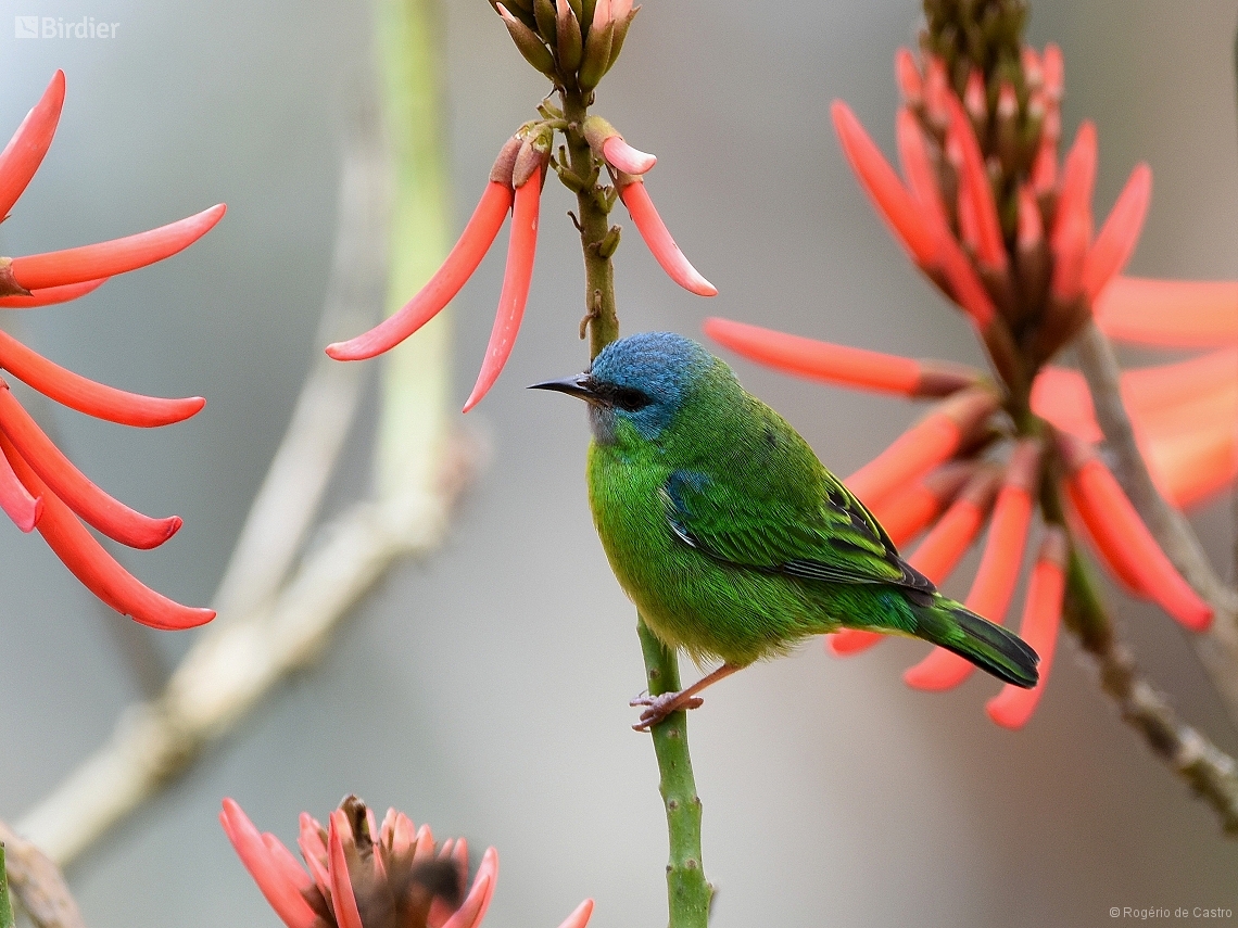
[[[306,867],[232,799],[224,799],[219,822],[288,928],[477,928],[499,875],[499,853],[488,848],[468,886],[463,838],[436,845],[430,825],[417,828],[395,809],[379,827],[355,796],[331,813],[327,828],[301,814],[297,845]],[[593,900],[586,900],[560,928],[584,928],[592,913]]]

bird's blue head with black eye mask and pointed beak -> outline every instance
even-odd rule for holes
[[[656,440],[671,423],[693,382],[714,358],[692,339],[671,332],[641,332],[607,345],[584,374],[546,384],[589,403],[593,437],[602,444],[615,439],[620,419],[640,436]]]

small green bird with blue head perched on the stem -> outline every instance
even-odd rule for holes
[[[699,667],[722,662],[686,689],[634,699],[636,730],[842,627],[922,638],[1036,684],[1036,652],[938,593],[800,433],[701,344],[628,335],[583,374],[530,389],[588,403],[593,521],[649,630]]]

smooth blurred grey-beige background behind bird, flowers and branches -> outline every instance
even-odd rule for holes
[[[635,234],[618,256],[625,330],[699,332],[707,314],[894,353],[979,361],[966,325],[919,277],[839,156],[828,104],[847,99],[893,152],[891,56],[912,0],[649,0],[598,110],[656,152],[649,188],[719,288],[692,297]],[[483,0],[442,4],[443,141],[457,228],[503,140],[547,87]],[[120,22],[110,41],[15,41],[15,15]],[[1236,4],[1036,2],[1030,38],[1061,43],[1065,122],[1097,121],[1096,208],[1150,162],[1155,193],[1132,270],[1238,273]],[[188,252],[72,304],[5,320],[35,349],[130,390],[202,393],[155,431],[48,410],[71,457],[109,491],[184,528],[124,552],[144,580],[209,600],[314,353],[344,131],[370,79],[365,4],[0,0],[0,135],[57,67],[59,132],[0,229],[0,254],[113,238],[227,200]],[[192,772],[69,871],[89,924],[275,926],[215,815],[235,797],[291,841],[345,792],[500,851],[487,924],[553,927],[586,897],[593,924],[665,922],[666,833],[649,739],[629,730],[643,685],[633,609],[593,535],[586,424],[524,385],[581,370],[582,272],[547,184],[529,313],[496,389],[468,424],[493,445],[446,548],[396,569],[319,666],[287,684]],[[629,225],[620,209],[617,219]],[[494,250],[454,304],[463,401],[503,272]],[[10,318],[17,314],[10,314]],[[1150,355],[1127,356],[1146,360]],[[376,366],[376,365],[374,365]],[[737,364],[841,474],[916,410]],[[328,509],[368,480],[364,413]],[[1195,513],[1232,577],[1232,502]],[[37,537],[0,526],[0,818],[15,820],[102,744],[142,695],[123,638],[168,666],[192,634],[118,624]],[[974,558],[950,589],[966,591]],[[1238,736],[1177,627],[1124,603],[1154,682],[1222,747]],[[691,739],[704,802],[714,924],[1092,926],[1112,906],[1238,911],[1238,845],[1154,760],[1063,641],[1019,734],[983,713],[977,674],[946,695],[904,687],[924,646],[848,661],[818,641],[712,689]],[[166,668],[165,668],[166,669]],[[686,667],[686,673],[693,673]],[[157,676],[158,667],[147,668]]]

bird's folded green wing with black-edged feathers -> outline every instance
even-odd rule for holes
[[[675,470],[662,486],[666,521],[685,543],[738,567],[932,594],[864,504],[812,463],[807,481],[754,481],[747,468]]]

